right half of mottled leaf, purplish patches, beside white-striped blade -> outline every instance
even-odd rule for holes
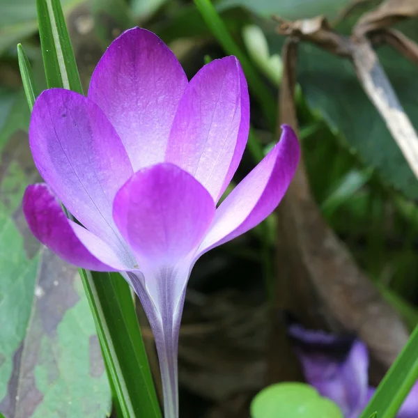
[[[77,268],[44,249],[34,294],[15,417],[109,415],[109,382]]]

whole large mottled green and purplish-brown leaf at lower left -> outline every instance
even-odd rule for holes
[[[110,389],[81,281],[39,254],[22,214],[24,188],[39,180],[23,131],[3,147],[0,167],[0,410],[102,418]]]

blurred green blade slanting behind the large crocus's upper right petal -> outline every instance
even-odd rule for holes
[[[210,0],[194,0],[208,28],[226,54],[235,55],[242,65],[251,93],[258,100],[272,130],[276,129],[277,104],[272,92],[255,70],[247,55],[238,47]]]

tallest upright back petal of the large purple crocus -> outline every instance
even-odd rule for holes
[[[187,77],[154,33],[134,28],[111,43],[91,77],[88,98],[116,128],[134,171],[162,162]]]

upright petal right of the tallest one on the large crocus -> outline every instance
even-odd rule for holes
[[[240,63],[235,56],[212,61],[180,100],[166,161],[191,173],[218,201],[240,163],[248,130],[248,88]]]

